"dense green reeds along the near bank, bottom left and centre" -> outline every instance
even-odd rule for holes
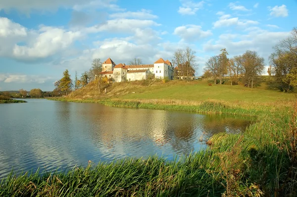
[[[224,182],[219,162],[209,150],[165,161],[156,156],[39,175],[12,173],[3,179],[1,197],[44,196],[220,196]]]

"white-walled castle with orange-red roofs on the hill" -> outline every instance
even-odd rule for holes
[[[114,82],[153,78],[164,79],[165,77],[172,80],[174,70],[172,63],[162,58],[158,59],[153,64],[144,65],[125,65],[122,63],[115,65],[115,63],[108,58],[102,63],[102,72],[100,72],[100,74],[107,79],[113,79]]]

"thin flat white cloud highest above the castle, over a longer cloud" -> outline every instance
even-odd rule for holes
[[[158,16],[151,14],[150,10],[142,9],[136,12],[118,12],[109,15],[110,18],[136,18],[136,19],[155,19]]]

